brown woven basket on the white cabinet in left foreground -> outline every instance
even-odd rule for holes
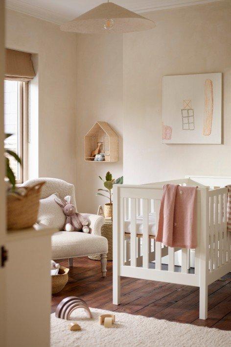
[[[45,182],[23,187],[25,195],[7,196],[7,229],[19,230],[31,227],[37,222],[41,188]]]

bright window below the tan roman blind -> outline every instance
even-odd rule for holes
[[[27,175],[28,134],[28,82],[4,81],[4,131],[12,134],[5,140],[5,149],[14,150],[22,159],[20,166],[9,157],[17,183],[23,183]]]

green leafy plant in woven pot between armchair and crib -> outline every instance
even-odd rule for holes
[[[103,185],[106,189],[98,189],[98,192],[105,192],[107,195],[102,193],[96,193],[96,195],[100,195],[102,197],[108,198],[110,202],[104,204],[104,215],[106,218],[113,216],[113,201],[112,201],[112,189],[114,184],[123,184],[123,176],[114,179],[112,177],[112,173],[108,171],[105,176],[105,180],[99,176],[99,178],[103,181]]]

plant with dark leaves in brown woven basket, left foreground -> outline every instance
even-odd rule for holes
[[[5,134],[7,139],[11,134]],[[23,229],[31,227],[37,222],[39,210],[40,191],[45,182],[40,182],[31,187],[17,187],[16,178],[10,167],[9,156],[21,165],[22,161],[18,154],[10,149],[5,149],[5,176],[7,178],[7,229]]]

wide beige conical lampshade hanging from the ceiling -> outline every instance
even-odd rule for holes
[[[112,29],[109,31],[104,29],[104,23],[107,19],[111,19],[114,22]],[[135,12],[129,11],[113,2],[104,2],[72,21],[61,25],[60,28],[63,31],[96,34],[105,31],[112,33],[142,31],[152,29],[155,26],[153,21]]]

